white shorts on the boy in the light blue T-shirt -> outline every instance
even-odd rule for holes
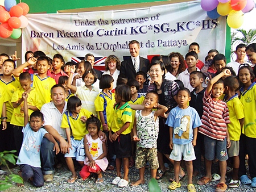
[[[174,144],[174,149],[171,152],[170,158],[174,161],[181,161],[182,156],[184,161],[193,161],[196,159],[192,142],[184,145]]]

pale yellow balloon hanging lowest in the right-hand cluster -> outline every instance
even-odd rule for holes
[[[243,11],[230,11],[226,21],[231,28],[241,27],[243,24]]]

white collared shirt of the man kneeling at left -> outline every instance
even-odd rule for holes
[[[65,102],[62,113],[57,109],[53,102],[46,103],[41,108],[41,112],[44,115],[44,126],[52,126],[64,139],[67,139],[67,135],[65,129],[61,128],[60,125],[66,109],[67,102]]]

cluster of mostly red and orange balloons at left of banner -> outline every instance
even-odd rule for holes
[[[18,39],[21,28],[27,27],[26,14],[30,7],[26,3],[16,4],[15,0],[5,0],[4,7],[0,5],[0,37]]]

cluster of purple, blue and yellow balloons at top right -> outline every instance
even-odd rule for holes
[[[243,14],[254,9],[254,0],[201,0],[201,7],[211,19],[228,16],[227,23],[231,28],[243,24]]]

